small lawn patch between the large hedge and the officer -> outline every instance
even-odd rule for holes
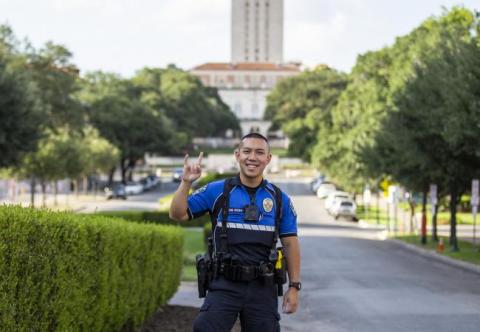
[[[185,228],[185,243],[183,248],[183,281],[196,281],[197,270],[195,268],[195,257],[205,252],[203,242],[203,229]]]

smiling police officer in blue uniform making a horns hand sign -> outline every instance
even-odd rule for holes
[[[276,234],[284,248],[290,281],[283,297],[283,312],[294,313],[301,289],[295,210],[285,193],[280,192],[281,198],[275,197],[273,184],[263,179],[263,171],[272,158],[268,140],[264,136],[251,133],[242,137],[235,157],[240,173],[228,180],[231,182],[227,193],[228,204],[222,206],[228,209],[228,213],[216,207],[224,193],[226,180],[211,182],[188,196],[192,182],[201,175],[203,153],[200,153],[197,162],[192,164],[188,162],[188,155],[185,156],[183,177],[172,200],[170,217],[178,221],[189,220],[209,212],[213,222],[214,256],[218,256],[222,250],[220,238],[222,218],[225,216],[224,237],[228,243],[226,251],[229,260],[242,267],[242,272],[250,272],[262,270],[258,267],[268,262],[275,234],[276,206],[281,205],[280,225]],[[279,199],[280,204],[277,204]],[[276,285],[256,274],[256,277],[246,277],[245,273],[240,277],[238,273],[235,275],[237,278],[231,275],[227,277],[227,272],[222,269],[215,275],[194,321],[193,330],[230,331],[239,317],[242,331],[279,331]]]

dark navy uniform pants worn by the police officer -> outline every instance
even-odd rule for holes
[[[240,317],[244,332],[279,332],[280,315],[276,286],[261,280],[212,282],[210,291],[193,323],[194,332],[230,332]]]

